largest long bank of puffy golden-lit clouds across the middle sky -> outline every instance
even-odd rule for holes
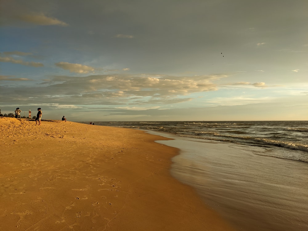
[[[71,68],[76,67],[72,65]],[[43,95],[49,95],[49,101],[65,103],[69,99],[71,103],[79,105],[88,103],[123,105],[135,102],[146,104],[153,100],[158,100],[156,103],[178,103],[189,100],[183,99],[183,96],[191,93],[218,90],[218,85],[213,81],[225,77],[225,75],[189,77],[153,74],[90,75],[79,78],[55,76],[46,80],[44,87],[37,90],[42,91]],[[63,92],[65,97],[61,96]]]

